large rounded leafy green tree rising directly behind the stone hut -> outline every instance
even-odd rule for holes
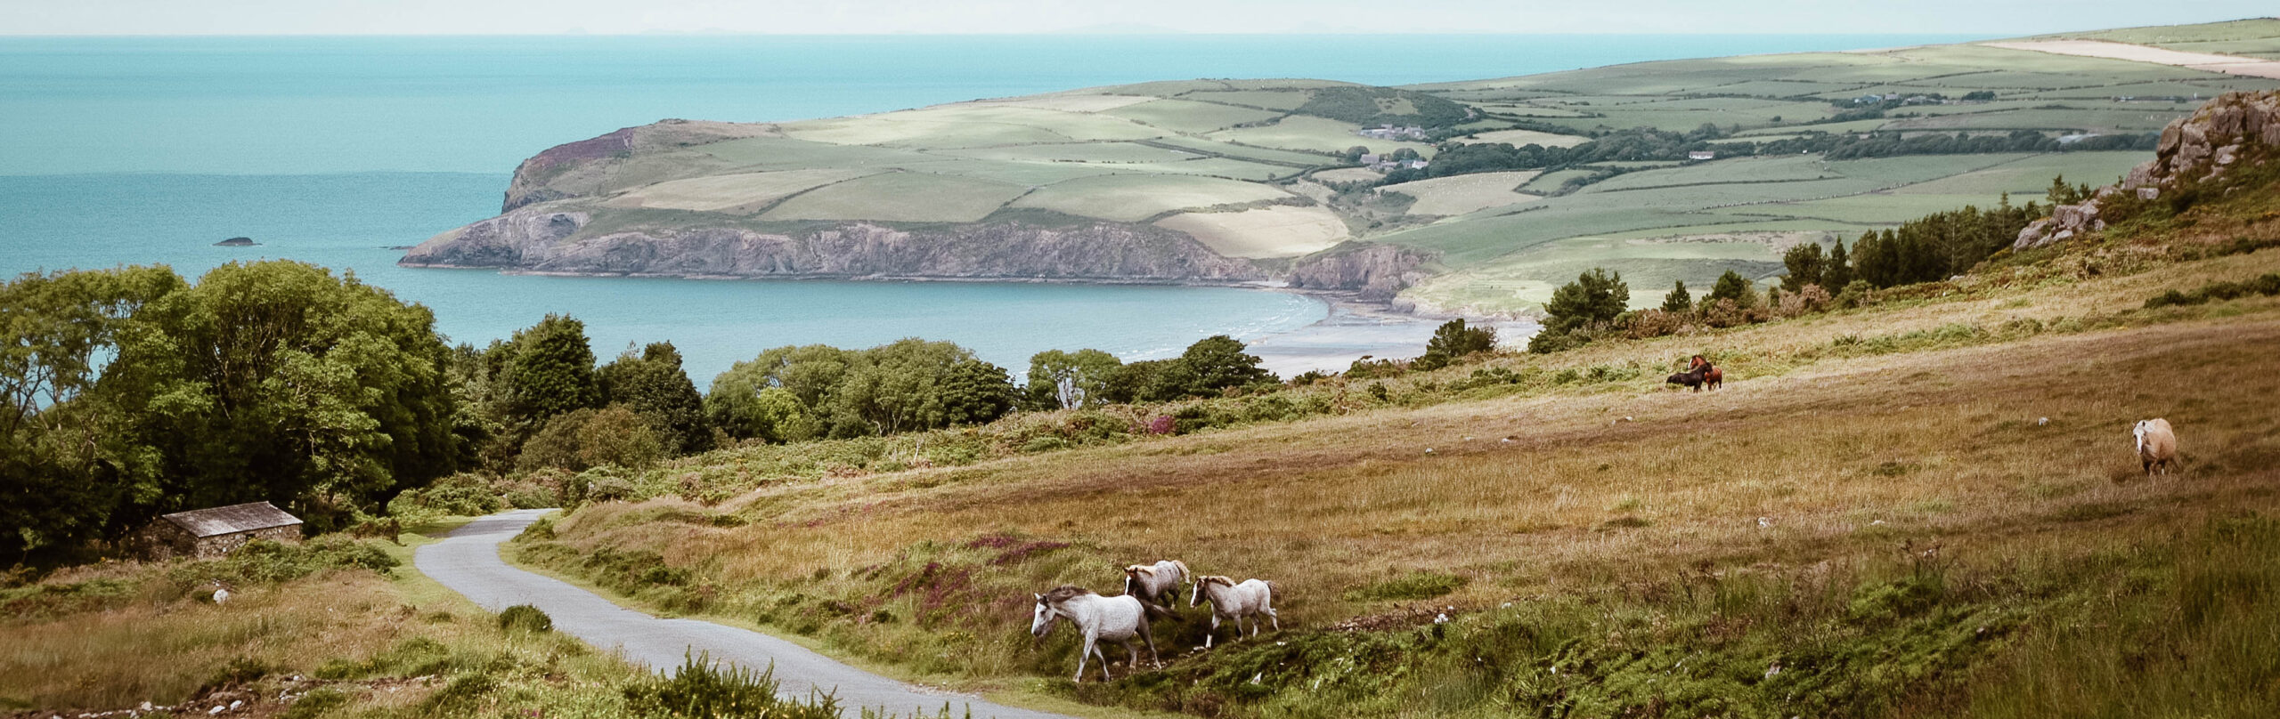
[[[426,307],[301,262],[233,262],[135,312],[100,391],[162,478],[135,514],[381,505],[454,469],[447,362]]]

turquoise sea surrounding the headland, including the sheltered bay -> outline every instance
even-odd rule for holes
[[[394,262],[401,246],[497,214],[524,157],[659,118],[796,121],[1186,77],[1414,84],[1968,39],[0,36],[0,278],[123,264],[196,278],[299,259],[431,307],[456,344],[545,314],[584,321],[604,360],[673,341],[700,387],[787,344],[944,339],[1015,373],[1047,348],[1154,360],[1211,334],[1304,334],[1332,307],[1233,287],[545,278]],[[260,246],[214,246],[228,237]]]

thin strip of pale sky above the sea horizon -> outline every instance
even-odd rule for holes
[[[2043,34],[2273,0],[0,0],[0,34]]]

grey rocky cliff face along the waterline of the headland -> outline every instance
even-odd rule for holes
[[[438,234],[397,264],[679,278],[930,278],[1247,282],[1265,273],[1188,234],[1126,223],[841,223],[798,232],[659,228],[584,232],[586,212],[531,205]]]

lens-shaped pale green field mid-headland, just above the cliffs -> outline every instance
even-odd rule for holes
[[[771,221],[976,223],[1026,187],[980,177],[885,173],[821,187],[762,214]]]

